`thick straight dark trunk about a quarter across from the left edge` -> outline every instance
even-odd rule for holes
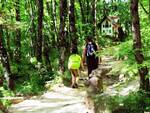
[[[36,45],[36,57],[42,62],[42,29],[43,29],[43,0],[37,0],[38,4],[38,36]]]

